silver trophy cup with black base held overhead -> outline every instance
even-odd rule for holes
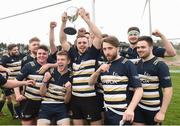
[[[67,9],[66,12],[67,12],[67,18],[70,22],[70,26],[64,29],[64,33],[68,35],[75,35],[77,31],[75,29],[74,21],[78,17],[78,8],[71,6]]]

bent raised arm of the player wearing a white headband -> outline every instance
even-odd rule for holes
[[[155,30],[152,33],[156,37],[160,37],[163,43],[164,48],[166,49],[165,55],[164,56],[175,56],[176,55],[176,50],[174,49],[173,45],[171,42],[166,38],[164,34],[162,34],[159,30]]]

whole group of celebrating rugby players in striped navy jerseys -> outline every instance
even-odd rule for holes
[[[61,48],[55,45],[56,22],[50,22],[49,48],[37,37],[29,40],[28,54],[19,53],[16,44],[8,45],[8,54],[1,57],[0,85],[12,116],[22,125],[162,124],[172,97],[169,68],[163,61],[176,55],[171,42],[155,30],[152,35],[163,47],[154,46],[152,37],[141,36],[133,26],[127,31],[130,46],[122,49],[84,8],[78,15],[89,29],[80,28],[75,41],[69,42],[64,12]]]

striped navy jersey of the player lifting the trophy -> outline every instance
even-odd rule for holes
[[[69,55],[72,60],[73,71],[72,95],[77,97],[96,96],[94,86],[88,85],[88,81],[91,74],[95,72],[99,52],[93,45],[82,55],[74,47],[70,48]]]

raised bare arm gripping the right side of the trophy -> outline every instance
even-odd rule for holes
[[[84,8],[79,9],[79,15],[82,17],[82,19],[87,23],[90,31],[92,31],[94,35],[93,45],[97,48],[101,48],[101,39],[102,39],[102,33],[98,29],[98,27],[90,20],[89,13],[85,11]]]

